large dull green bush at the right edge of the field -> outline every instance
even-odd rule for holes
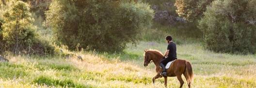
[[[206,47],[216,52],[256,52],[256,0],[216,0],[199,28]]]

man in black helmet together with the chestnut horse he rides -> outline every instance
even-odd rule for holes
[[[172,37],[166,36],[165,39],[168,43],[168,47],[164,55],[158,50],[144,50],[144,66],[148,66],[151,61],[156,66],[157,74],[152,78],[153,84],[155,83],[156,79],[164,77],[164,86],[167,87],[167,77],[176,76],[180,83],[179,88],[182,88],[184,81],[181,75],[183,74],[187,80],[188,87],[190,88],[193,81],[191,63],[184,59],[177,59],[176,44],[172,41]],[[166,64],[168,64],[167,67],[165,67]]]

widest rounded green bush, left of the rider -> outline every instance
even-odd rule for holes
[[[153,11],[124,0],[54,0],[46,15],[56,39],[70,49],[115,52],[136,43]]]

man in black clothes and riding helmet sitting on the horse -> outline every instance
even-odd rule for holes
[[[167,50],[164,53],[164,59],[160,61],[160,67],[162,68],[162,73],[161,75],[167,76],[165,65],[177,59],[176,55],[176,44],[173,42],[173,38],[171,36],[166,36],[165,40],[168,43]]]

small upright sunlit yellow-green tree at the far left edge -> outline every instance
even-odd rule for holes
[[[28,4],[17,1],[4,15],[2,26],[2,37],[6,49],[14,52],[31,46],[35,37],[35,27],[32,25],[32,17]]]

